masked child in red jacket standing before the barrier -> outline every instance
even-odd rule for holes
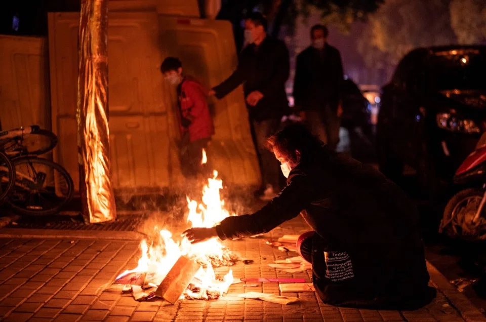
[[[184,176],[194,177],[203,170],[203,149],[207,149],[214,134],[207,102],[208,90],[196,79],[182,73],[182,64],[176,57],[166,58],[160,71],[166,81],[177,86],[182,171]]]

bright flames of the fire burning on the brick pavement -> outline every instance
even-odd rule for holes
[[[203,161],[205,156],[206,151],[203,150]],[[224,209],[224,201],[220,196],[222,188],[223,181],[218,179],[218,172],[215,170],[213,178],[209,178],[208,184],[203,188],[203,203],[198,205],[195,200],[187,197],[189,208],[187,222],[191,227],[213,227],[224,218],[234,216]],[[140,244],[142,256],[138,260],[137,267],[121,273],[117,280],[130,273],[146,272],[143,288],[157,287],[179,257],[184,255],[197,261],[206,269],[201,267],[197,271],[181,298],[212,299],[227,292],[233,283],[232,271],[229,270],[222,279],[218,279],[213,266],[233,265],[236,257],[217,238],[193,245],[186,237],[181,242],[176,242],[169,230],[155,229],[157,233],[151,245],[148,245],[146,240],[142,240]]]

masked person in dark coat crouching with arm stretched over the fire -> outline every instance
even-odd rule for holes
[[[398,186],[373,167],[323,146],[303,125],[284,128],[268,144],[287,186],[254,214],[186,230],[190,242],[266,233],[300,213],[312,231],[299,238],[299,252],[312,263],[323,302],[401,310],[435,297],[419,214]]]

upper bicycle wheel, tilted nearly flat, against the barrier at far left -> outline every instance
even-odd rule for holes
[[[33,154],[41,155],[54,149],[57,145],[57,136],[48,130],[36,130],[13,138],[3,144],[2,150],[9,155]]]

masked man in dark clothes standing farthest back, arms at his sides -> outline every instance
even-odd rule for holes
[[[343,65],[339,51],[326,41],[328,29],[315,25],[312,45],[297,56],[294,100],[313,133],[336,149],[339,143]]]

